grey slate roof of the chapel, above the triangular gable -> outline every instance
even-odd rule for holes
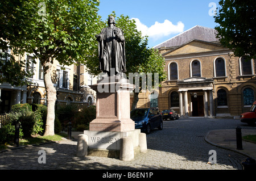
[[[154,48],[159,49],[161,47],[179,47],[191,40],[201,40],[208,42],[216,42],[217,31],[214,28],[207,28],[202,26],[195,26],[190,28],[179,35],[172,37],[171,39],[156,45]]]

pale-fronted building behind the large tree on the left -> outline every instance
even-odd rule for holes
[[[10,53],[10,52],[9,52]],[[30,60],[32,54],[24,57],[15,57],[15,60]],[[34,75],[27,79],[31,85],[11,86],[8,82],[0,84],[0,113],[9,112],[14,104],[30,103],[47,105],[46,89],[44,86],[43,68],[39,60],[36,63],[30,61],[27,71]],[[92,77],[85,65],[63,66],[56,60],[52,66],[52,82],[57,91],[56,108],[60,104],[76,104],[78,108],[96,102],[96,92],[89,85],[96,83],[96,77]]]

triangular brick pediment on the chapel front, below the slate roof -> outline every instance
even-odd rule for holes
[[[172,49],[163,54],[164,57],[174,56],[177,54],[189,54],[189,53],[201,53],[201,52],[210,52],[213,50],[224,49],[220,44],[209,43],[207,41],[192,40],[188,43],[181,45],[175,49]]]

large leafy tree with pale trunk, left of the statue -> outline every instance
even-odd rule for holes
[[[84,63],[93,51],[92,41],[99,28],[98,0],[3,0],[1,1],[1,48],[14,55],[31,53],[43,66],[47,94],[45,135],[54,134],[56,89],[52,63]],[[6,42],[6,43],[5,43]]]

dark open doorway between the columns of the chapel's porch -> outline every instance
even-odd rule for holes
[[[204,96],[191,96],[192,116],[204,116]]]

